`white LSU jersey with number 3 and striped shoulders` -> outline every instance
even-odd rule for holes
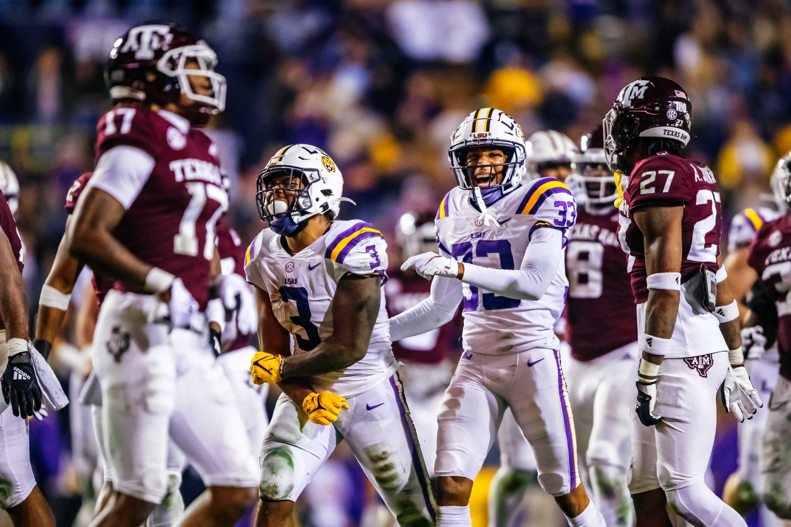
[[[309,352],[332,334],[332,299],[341,278],[380,275],[384,284],[387,248],[382,233],[361,220],[333,221],[324,235],[293,255],[282,246],[282,237],[266,228],[244,255],[244,273],[269,295],[274,316],[293,337],[293,353]],[[354,397],[397,368],[382,292],[365,357],[343,371],[314,376],[312,385],[314,390]]]

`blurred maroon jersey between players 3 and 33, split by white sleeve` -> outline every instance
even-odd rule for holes
[[[431,282],[419,277],[417,273],[397,268],[388,271],[388,282],[384,284],[384,305],[387,307],[388,316],[392,318],[407,311],[427,299],[430,292]],[[445,326],[393,342],[393,355],[396,359],[413,363],[441,363],[449,354],[461,352],[460,337],[460,317],[455,317]]]

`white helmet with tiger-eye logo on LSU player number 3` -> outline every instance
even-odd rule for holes
[[[278,186],[273,180],[289,176]],[[290,201],[287,193],[293,193]],[[324,150],[312,145],[288,145],[271,157],[256,182],[255,203],[261,220],[278,234],[290,235],[300,224],[331,212],[338,216],[343,198],[343,176]]]

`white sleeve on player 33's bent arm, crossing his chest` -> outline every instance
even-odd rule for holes
[[[538,300],[547,292],[563,258],[563,233],[539,228],[533,233],[520,269],[490,269],[464,264],[461,281],[520,300]]]

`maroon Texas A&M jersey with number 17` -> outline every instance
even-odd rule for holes
[[[115,228],[115,238],[137,258],[184,281],[206,308],[214,225],[227,203],[217,146],[186,119],[145,104],[117,107],[97,126],[97,162],[115,146],[141,149],[154,166]],[[141,289],[115,282],[120,291]]]

